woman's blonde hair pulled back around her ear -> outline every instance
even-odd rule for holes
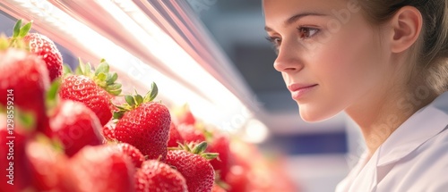
[[[353,0],[351,0],[353,1]],[[414,66],[418,80],[441,94],[448,90],[448,0],[358,0],[366,19],[374,24],[389,21],[404,6],[422,14],[423,29],[414,45]]]

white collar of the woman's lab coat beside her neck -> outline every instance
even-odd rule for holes
[[[386,139],[378,152],[376,166],[395,163],[447,128],[448,91],[414,113]]]

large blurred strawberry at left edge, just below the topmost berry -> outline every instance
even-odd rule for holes
[[[49,79],[45,63],[34,54],[14,48],[0,51],[0,58],[0,104],[6,106],[10,101],[14,108],[33,113],[39,131],[49,134],[45,107]]]

